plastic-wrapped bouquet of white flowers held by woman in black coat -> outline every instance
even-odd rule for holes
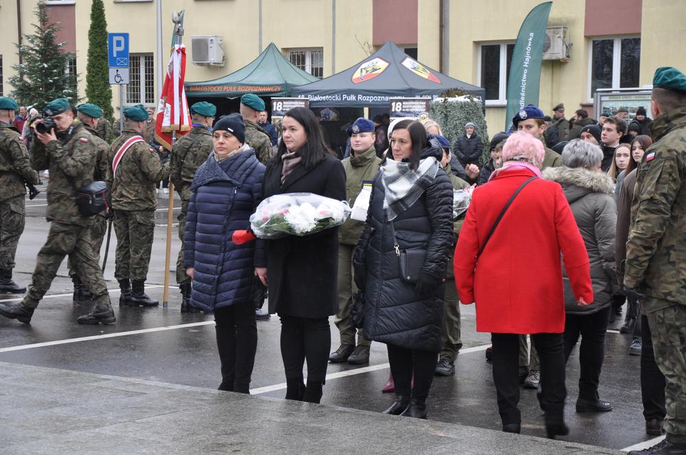
[[[264,199],[250,215],[250,228],[259,238],[306,236],[342,225],[350,212],[346,201],[312,193],[285,193]]]

